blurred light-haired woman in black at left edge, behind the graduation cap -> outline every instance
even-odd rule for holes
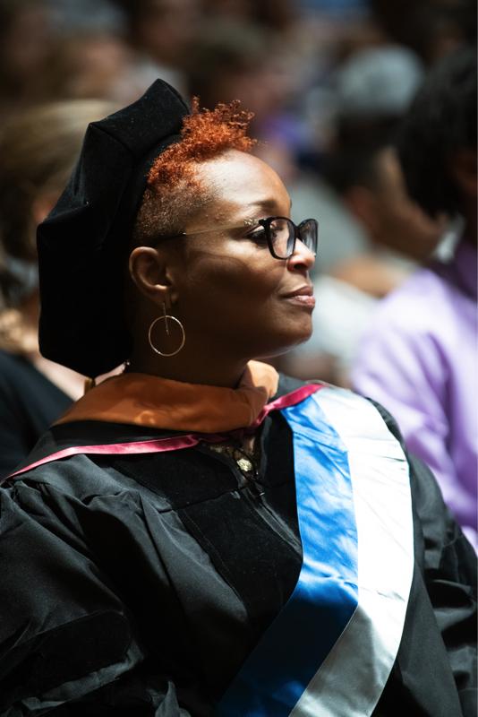
[[[84,377],[40,356],[35,229],[55,205],[97,99],[51,102],[11,117],[0,136],[0,476],[81,396]]]

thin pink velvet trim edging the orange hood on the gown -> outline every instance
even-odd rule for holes
[[[260,426],[262,421],[268,416],[271,410],[281,410],[288,406],[294,406],[296,403],[304,401],[316,393],[322,388],[322,384],[307,384],[301,386],[292,393],[286,393],[285,396],[277,398],[276,401],[268,403],[260,411],[258,418],[254,421],[252,426],[248,426],[244,429],[245,432],[255,430]],[[235,433],[235,431],[232,431]],[[90,454],[90,455],[133,455],[133,454],[158,454],[164,451],[178,451],[182,448],[192,448],[194,445],[198,445],[200,441],[207,443],[220,443],[221,441],[227,440],[226,434],[194,434],[190,433],[185,436],[175,436],[174,438],[153,438],[149,441],[132,441],[131,443],[113,443],[105,445],[72,445],[69,448],[64,448],[61,451],[56,451],[55,454],[50,454],[44,458],[40,458],[39,461],[30,463],[25,468],[21,468],[20,471],[14,471],[8,478],[21,475],[27,471],[31,471],[33,468],[37,468],[39,465],[50,463],[53,461],[59,461],[62,458],[69,458],[71,455],[78,454]]]

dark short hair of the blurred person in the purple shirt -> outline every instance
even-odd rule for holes
[[[476,149],[476,51],[471,47],[431,70],[397,134],[408,192],[432,217],[460,210],[461,194],[449,168],[460,149]]]

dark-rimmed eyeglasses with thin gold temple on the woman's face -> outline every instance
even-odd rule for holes
[[[252,239],[258,245],[267,244],[270,254],[275,259],[288,259],[292,256],[297,239],[300,239],[314,256],[317,254],[319,225],[315,219],[305,219],[297,225],[287,217],[267,217],[266,219],[246,220],[240,227],[216,227],[191,233],[184,231],[180,234],[160,238],[195,237],[199,234],[208,234],[211,231],[247,229],[248,227],[251,227],[251,230],[244,236]]]

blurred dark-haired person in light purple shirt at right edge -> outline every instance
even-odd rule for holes
[[[431,216],[461,216],[448,263],[431,262],[383,302],[353,371],[354,388],[396,417],[477,546],[478,444],[476,53],[436,65],[397,142],[411,196]]]

